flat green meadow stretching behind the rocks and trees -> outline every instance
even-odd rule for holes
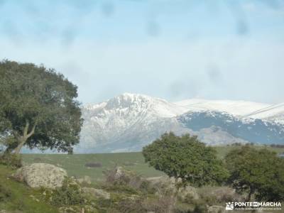
[[[255,148],[263,148],[263,146],[254,146]],[[219,158],[236,148],[234,146],[215,147]],[[277,153],[283,153],[284,148],[271,148],[269,150]],[[164,175],[158,170],[150,168],[145,162],[142,153],[104,153],[104,154],[23,154],[24,163],[50,163],[58,165],[67,170],[68,175],[77,178],[84,175],[92,178],[93,182],[104,180],[104,170],[114,168],[116,165],[124,167],[126,170],[132,170],[143,177],[156,177]],[[100,163],[102,166],[98,168],[88,168],[86,163]]]

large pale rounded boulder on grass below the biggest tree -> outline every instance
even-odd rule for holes
[[[63,180],[67,177],[66,170],[48,163],[33,163],[16,170],[13,178],[26,182],[29,187],[44,187],[55,189],[62,187]]]

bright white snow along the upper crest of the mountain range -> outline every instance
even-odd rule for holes
[[[150,97],[145,94],[123,93],[99,104],[88,104],[84,108],[91,111],[113,114],[131,112],[138,115],[151,114],[161,118],[179,116],[187,111],[219,111],[234,116],[251,117],[253,119],[283,119],[284,104],[264,104],[257,102],[234,100],[185,99],[180,102],[168,102],[165,99]],[[112,112],[111,112],[112,111]]]

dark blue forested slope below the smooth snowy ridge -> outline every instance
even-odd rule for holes
[[[203,111],[182,114],[178,120],[186,128],[200,131],[218,126],[235,138],[252,143],[284,143],[284,125],[261,119],[236,117],[226,112]]]

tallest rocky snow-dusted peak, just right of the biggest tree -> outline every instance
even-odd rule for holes
[[[82,108],[84,126],[80,149],[114,151],[115,147],[123,151],[129,146],[135,149],[140,143],[146,144],[161,133],[175,129],[178,123],[172,118],[185,111],[185,107],[163,99],[129,93],[100,104],[89,104]]]

